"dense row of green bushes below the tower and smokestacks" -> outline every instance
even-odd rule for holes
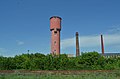
[[[79,57],[22,54],[15,57],[0,56],[0,70],[120,70],[120,58],[105,58],[97,52],[83,53]]]

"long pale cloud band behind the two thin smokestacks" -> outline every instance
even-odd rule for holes
[[[103,35],[104,43],[108,46],[120,46],[119,34],[105,34]],[[79,37],[80,47],[96,47],[100,46],[100,35],[88,35]],[[61,41],[62,49],[75,47],[75,37],[63,39]]]

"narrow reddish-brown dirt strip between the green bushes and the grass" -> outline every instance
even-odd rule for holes
[[[81,73],[96,73],[96,72],[114,72],[112,70],[0,70],[0,74],[8,74],[8,73],[35,73],[35,74],[81,74]]]

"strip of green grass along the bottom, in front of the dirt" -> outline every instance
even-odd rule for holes
[[[77,71],[70,73],[61,73],[57,72],[57,74],[53,73],[54,71],[46,71],[44,74],[35,72],[35,73],[0,73],[0,79],[120,79],[120,71]]]

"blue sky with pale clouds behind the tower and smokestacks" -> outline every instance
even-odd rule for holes
[[[50,53],[51,16],[62,18],[61,53],[120,52],[120,0],[0,0],[0,55]]]

